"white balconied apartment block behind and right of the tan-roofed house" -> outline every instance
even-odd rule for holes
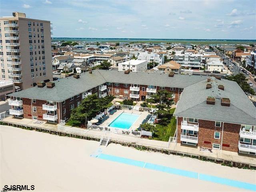
[[[202,66],[202,56],[200,54],[175,54],[173,60],[178,64],[181,64],[182,68],[192,69],[201,68]]]

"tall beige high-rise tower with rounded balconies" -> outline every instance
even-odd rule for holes
[[[52,80],[50,21],[12,15],[0,18],[0,79],[22,89]]]

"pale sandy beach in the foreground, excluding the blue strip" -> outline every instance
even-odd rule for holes
[[[246,191],[90,157],[99,142],[0,126],[0,188],[34,191]],[[256,184],[256,171],[110,144],[102,153]]]

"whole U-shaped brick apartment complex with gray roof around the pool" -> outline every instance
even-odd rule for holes
[[[10,114],[60,123],[90,94],[99,98],[145,100],[158,90],[173,93],[177,108],[177,141],[215,149],[256,153],[256,109],[236,82],[206,76],[170,76],[163,73],[125,74],[93,70],[38,83],[37,87],[9,94]]]

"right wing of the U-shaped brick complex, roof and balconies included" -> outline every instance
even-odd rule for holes
[[[174,112],[178,143],[255,155],[255,111],[236,82],[211,77],[192,84]]]

